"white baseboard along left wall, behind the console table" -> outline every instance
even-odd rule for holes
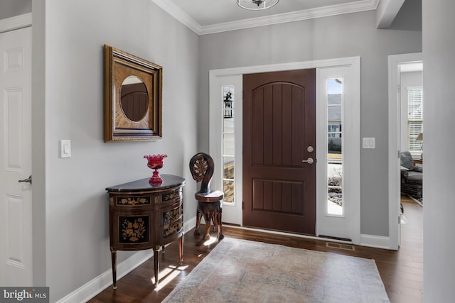
[[[196,225],[196,217],[186,221],[184,223],[184,230],[190,231]],[[127,260],[117,264],[117,281],[120,280],[124,275],[137,268],[139,265],[149,260],[154,255],[153,250],[139,250],[134,253]],[[85,283],[74,292],[71,292],[67,296],[58,300],[57,303],[80,303],[87,302],[92,297],[105,290],[106,287],[112,285],[112,269],[106,270],[95,279]]]

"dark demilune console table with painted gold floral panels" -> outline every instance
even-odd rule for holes
[[[107,187],[112,281],[117,288],[117,250],[154,250],[155,286],[158,286],[159,250],[178,239],[183,262],[183,195],[185,179],[161,175],[152,186],[149,178]]]

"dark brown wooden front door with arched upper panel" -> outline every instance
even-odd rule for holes
[[[314,235],[315,158],[316,70],[244,75],[243,225]]]

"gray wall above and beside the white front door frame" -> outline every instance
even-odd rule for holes
[[[361,56],[361,233],[389,236],[387,201],[387,55],[422,51],[422,33],[378,30],[375,11],[203,35],[200,38],[198,144],[208,149],[208,71]]]

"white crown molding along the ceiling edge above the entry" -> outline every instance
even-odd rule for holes
[[[324,6],[316,9],[306,9],[302,11],[293,11],[290,13],[279,13],[272,16],[259,18],[250,18],[240,21],[213,24],[211,26],[200,26],[187,13],[182,11],[173,2],[168,0],[151,0],[157,6],[176,18],[198,35],[207,35],[210,33],[221,33],[225,31],[236,31],[244,28],[254,28],[258,26],[269,26],[272,24],[287,23],[313,18],[322,18],[336,16],[345,13],[357,13],[360,11],[371,11],[378,7],[380,0],[363,0],[347,4],[337,4],[333,6]]]

